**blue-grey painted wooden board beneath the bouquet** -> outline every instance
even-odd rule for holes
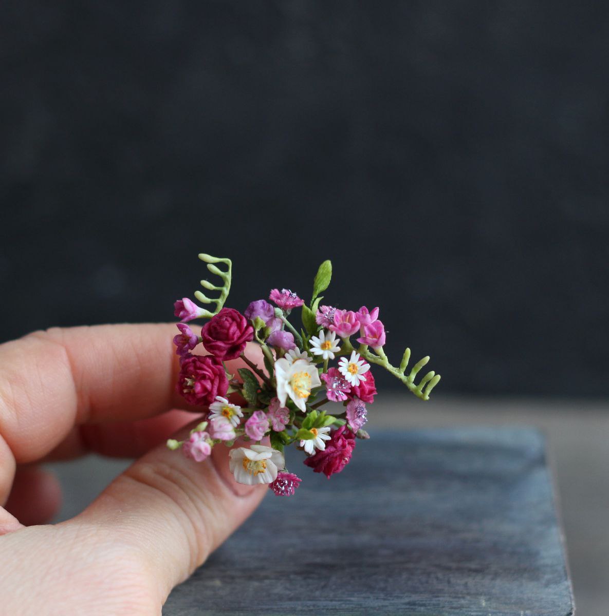
[[[544,442],[527,428],[377,433],[330,480],[300,471],[163,614],[573,614]]]

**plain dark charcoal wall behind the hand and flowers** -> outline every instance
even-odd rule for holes
[[[330,258],[438,390],[609,394],[606,5],[13,1],[0,54],[0,341]]]

